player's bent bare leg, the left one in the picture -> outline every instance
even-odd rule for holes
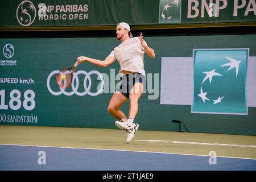
[[[121,121],[122,118],[127,120],[127,117],[125,113],[120,109],[120,107],[125,104],[127,101],[127,97],[125,97],[122,93],[115,91],[113,94],[109,106],[108,111],[110,114],[112,114],[115,118],[117,118],[119,121]]]

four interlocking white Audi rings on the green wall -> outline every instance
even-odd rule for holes
[[[71,92],[67,92],[60,87],[59,87],[60,91],[55,92],[51,89],[50,80],[51,80],[51,77],[53,75],[56,75],[57,73],[59,73],[58,70],[52,71],[47,78],[47,88],[48,88],[49,92],[51,94],[53,94],[54,96],[59,96],[60,94],[64,94],[65,96],[72,96],[73,94],[76,94],[77,96],[85,96],[86,94],[88,94],[89,96],[98,96],[98,94],[100,94],[104,88],[104,77],[101,75],[100,72],[98,72],[98,71],[85,72],[85,71],[81,70],[81,71],[73,73],[73,80],[72,80],[72,84],[71,84],[72,91]],[[84,92],[78,91],[78,89],[79,89],[79,77],[78,76],[80,74],[85,75],[84,83],[83,83]],[[92,87],[92,79],[90,78],[90,75],[93,75],[93,74],[98,75],[98,77],[101,80],[100,89],[98,89],[97,92],[90,92],[90,88]],[[87,80],[89,82],[88,86],[86,85]]]

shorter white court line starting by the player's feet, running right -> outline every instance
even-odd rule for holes
[[[230,146],[230,147],[251,147],[256,148],[256,146],[247,146],[244,144],[224,144],[224,143],[200,143],[200,142],[182,142],[182,141],[170,141],[170,140],[135,140],[138,142],[162,142],[162,143],[179,143],[179,144],[201,144],[208,146]]]

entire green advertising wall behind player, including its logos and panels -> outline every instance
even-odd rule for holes
[[[256,135],[255,34],[144,39],[156,56],[144,56],[141,130],[176,131],[171,121],[179,119],[189,131]],[[0,39],[0,125],[116,129],[107,108],[121,83],[118,61],[79,65],[66,90],[56,74],[77,56],[104,60],[118,45],[116,38]],[[129,101],[121,109],[127,114]]]

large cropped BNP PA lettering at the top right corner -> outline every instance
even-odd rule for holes
[[[225,10],[228,6],[228,0],[188,0],[188,15],[187,18],[204,18],[209,17],[220,17],[221,11]],[[234,0],[232,3],[233,12],[230,12],[230,16],[248,16],[250,12],[256,15],[256,3],[255,0]]]

